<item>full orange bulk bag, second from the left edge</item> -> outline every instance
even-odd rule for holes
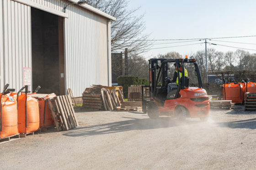
[[[26,107],[27,103],[27,107]],[[39,127],[39,105],[36,98],[21,93],[18,98],[19,132],[28,134],[37,131]]]

